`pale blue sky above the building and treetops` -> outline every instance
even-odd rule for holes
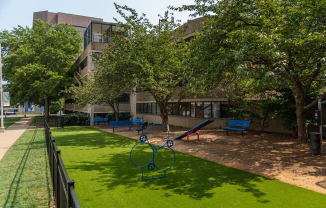
[[[113,2],[128,5],[138,13],[146,13],[152,23],[158,23],[157,14],[163,14],[166,6],[192,4],[193,0],[0,0],[0,30],[19,25],[31,26],[33,12],[48,10],[102,18],[113,21],[119,18]],[[174,12],[176,19],[185,22],[189,12]]]

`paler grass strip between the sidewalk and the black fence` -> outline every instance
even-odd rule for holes
[[[0,160],[0,207],[52,207],[44,131],[25,130]]]

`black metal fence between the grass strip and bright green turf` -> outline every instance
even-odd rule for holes
[[[55,206],[56,208],[78,208],[80,207],[80,204],[74,191],[74,181],[69,178],[68,173],[64,167],[60,155],[60,150],[55,144],[55,139],[52,138],[48,122],[44,123],[44,133]]]

